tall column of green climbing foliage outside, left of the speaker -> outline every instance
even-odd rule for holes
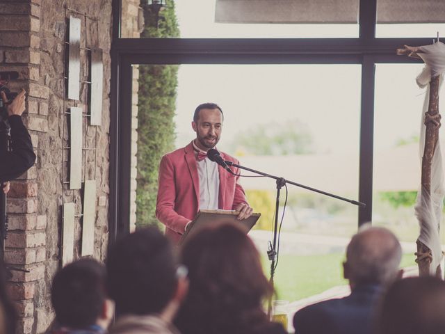
[[[156,15],[145,6],[145,29],[141,38],[179,37],[175,3]],[[158,167],[162,154],[172,150],[175,141],[175,102],[177,65],[140,65],[138,90],[138,175],[136,226],[156,225],[154,212],[158,191]]]

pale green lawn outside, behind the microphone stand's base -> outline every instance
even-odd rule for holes
[[[277,299],[296,301],[319,294],[337,285],[347,285],[341,263],[344,255],[280,255],[275,271]],[[270,262],[262,258],[264,271],[269,277]],[[404,254],[401,267],[414,266],[414,254]]]

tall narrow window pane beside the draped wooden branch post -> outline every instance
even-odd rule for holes
[[[412,265],[419,237],[414,204],[421,180],[419,134],[426,88],[417,86],[416,77],[422,67],[378,64],[375,70],[373,224],[393,230],[405,242],[403,251],[410,253]],[[439,100],[439,110],[443,108]]]

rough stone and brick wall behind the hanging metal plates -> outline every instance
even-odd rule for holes
[[[138,22],[138,10],[133,5],[138,1],[131,0],[131,3],[131,13],[126,15],[132,15],[129,20],[134,24]],[[84,151],[83,176],[95,177],[97,186],[93,256],[104,260],[108,245],[111,0],[1,1],[0,71],[19,72],[19,80],[11,83],[10,88],[24,88],[28,93],[23,118],[37,155],[35,166],[12,182],[8,194],[5,260],[28,271],[12,271],[13,278],[8,283],[21,317],[18,333],[43,333],[52,321],[49,289],[60,267],[63,203],[74,202],[76,214],[82,212],[83,192],[69,190],[64,183],[69,175],[65,113],[70,106],[80,106],[84,113],[88,110],[86,82],[81,83],[81,102],[65,98],[65,31],[70,15],[81,19],[81,80],[87,80],[86,49],[99,47],[104,51],[102,125],[90,126],[86,117],[83,122],[86,132],[83,146],[96,146],[99,150]],[[136,24],[127,28],[133,29],[136,35],[137,27]],[[136,129],[137,100],[133,112]],[[136,146],[133,149],[136,154]],[[74,258],[79,258],[80,216],[76,217],[74,237]]]

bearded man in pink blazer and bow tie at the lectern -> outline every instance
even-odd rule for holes
[[[156,217],[165,224],[165,234],[172,241],[179,241],[200,208],[236,210],[240,220],[252,214],[243,187],[238,184],[239,177],[207,158],[207,151],[220,140],[223,120],[217,104],[200,104],[192,122],[196,138],[161,159]],[[224,160],[238,164],[229,154],[220,154]],[[238,168],[231,169],[239,174]]]

